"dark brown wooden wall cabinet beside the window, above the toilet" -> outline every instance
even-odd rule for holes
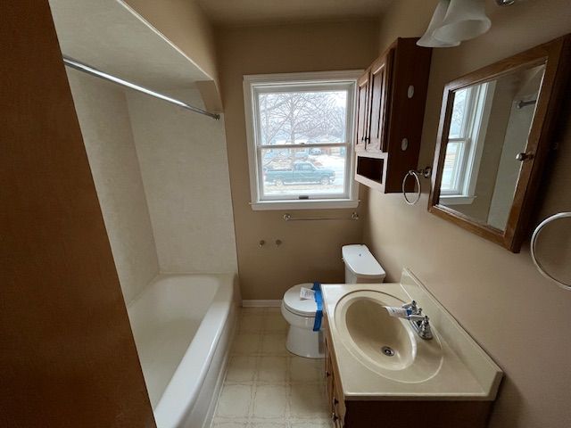
[[[398,38],[358,81],[355,179],[384,193],[417,169],[432,53],[417,40]]]

